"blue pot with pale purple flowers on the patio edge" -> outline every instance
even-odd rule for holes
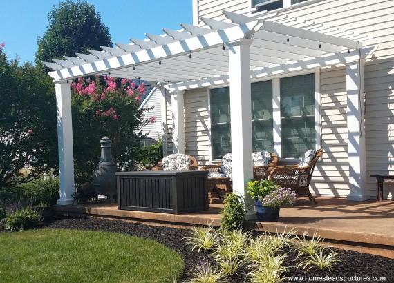
[[[281,207],[292,206],[297,202],[297,196],[291,188],[278,188],[266,195],[261,206],[256,205],[257,218],[260,221],[278,221]]]

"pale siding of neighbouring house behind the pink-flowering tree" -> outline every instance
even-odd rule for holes
[[[147,103],[144,105],[144,108],[150,108],[154,106],[149,113],[145,116],[146,119],[149,117],[156,117],[156,123],[150,123],[147,126],[142,128],[142,133],[147,134],[147,137],[151,139],[158,140],[162,137],[162,118],[161,118],[161,107],[160,107],[160,99],[161,99],[160,90],[156,89],[151,97],[149,97]]]

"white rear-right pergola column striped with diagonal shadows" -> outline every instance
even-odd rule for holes
[[[366,188],[366,148],[364,125],[364,62],[346,65],[349,200],[370,199]]]

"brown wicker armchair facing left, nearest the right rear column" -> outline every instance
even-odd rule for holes
[[[268,168],[268,179],[285,188],[292,188],[298,195],[307,195],[309,200],[317,204],[315,197],[309,191],[310,179],[319,158],[323,155],[323,149],[316,152],[315,157],[306,166],[273,166]]]

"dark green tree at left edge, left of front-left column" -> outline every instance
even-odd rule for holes
[[[57,168],[56,101],[48,75],[0,48],[0,187]],[[30,170],[24,170],[26,167]]]

